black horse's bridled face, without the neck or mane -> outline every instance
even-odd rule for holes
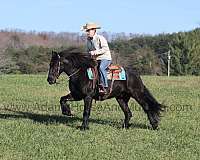
[[[52,52],[51,61],[49,64],[49,74],[47,81],[49,84],[56,83],[56,79],[59,77],[59,75],[62,73],[62,67],[60,63],[60,55],[57,52]]]

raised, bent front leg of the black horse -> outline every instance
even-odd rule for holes
[[[72,97],[70,93],[60,98],[60,106],[61,106],[62,114],[67,115],[67,116],[73,115],[68,103],[68,101],[73,101],[73,100],[74,98]]]

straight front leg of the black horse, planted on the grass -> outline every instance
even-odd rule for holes
[[[81,130],[89,129],[88,127],[88,119],[90,116],[90,110],[92,107],[92,97],[87,96],[84,98],[84,111],[83,111],[83,123],[81,126]]]

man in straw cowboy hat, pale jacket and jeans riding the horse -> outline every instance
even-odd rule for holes
[[[87,33],[87,51],[95,57],[99,63],[100,73],[100,94],[108,94],[107,68],[111,64],[112,58],[107,40],[97,34],[97,29],[101,27],[95,23],[86,23],[82,30]]]

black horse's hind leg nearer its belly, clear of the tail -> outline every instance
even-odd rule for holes
[[[117,102],[119,103],[119,106],[121,107],[122,111],[124,112],[124,123],[123,123],[123,128],[129,128],[129,121],[132,117],[132,113],[128,107],[128,101],[130,97],[124,97],[124,98],[116,98]]]

